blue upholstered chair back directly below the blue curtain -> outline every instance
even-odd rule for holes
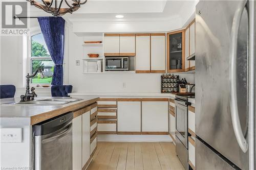
[[[68,93],[71,93],[72,89],[71,85],[52,85],[51,92],[53,97],[69,97]]]

